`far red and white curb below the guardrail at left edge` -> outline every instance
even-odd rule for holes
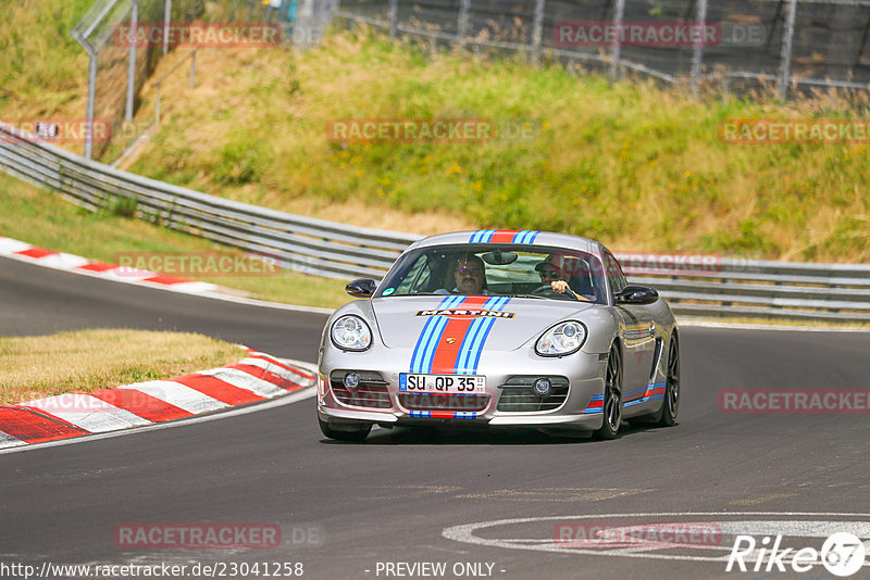
[[[187,280],[185,278],[169,276],[157,272],[122,267],[117,264],[107,264],[74,254],[54,252],[2,236],[0,236],[0,255],[13,257],[23,262],[35,262],[40,266],[54,269],[88,274],[120,282],[164,288],[166,290],[190,294],[214,292],[222,289],[220,286],[209,282]]]

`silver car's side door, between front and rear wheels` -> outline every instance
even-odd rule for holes
[[[604,259],[610,292],[616,297],[627,282],[613,254],[606,251]],[[630,403],[641,399],[649,383],[658,350],[658,333],[652,324],[651,306],[617,304],[616,311],[621,318],[620,331],[625,346],[622,396],[623,402]]]

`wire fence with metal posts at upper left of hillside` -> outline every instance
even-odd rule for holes
[[[110,146],[123,148],[141,133],[130,125],[139,91],[175,48],[291,40],[298,1],[313,2],[97,0],[72,30],[89,56],[85,156],[100,157]]]

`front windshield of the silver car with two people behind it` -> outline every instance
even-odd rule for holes
[[[576,250],[524,244],[421,248],[396,263],[375,298],[425,294],[607,303],[598,257]]]

